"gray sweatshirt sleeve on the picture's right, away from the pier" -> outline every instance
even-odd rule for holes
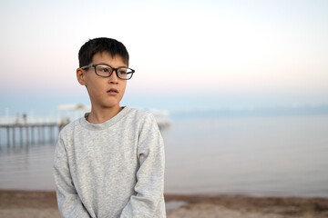
[[[164,143],[159,126],[148,114],[138,138],[136,192],[121,213],[121,218],[166,217],[164,202]]]

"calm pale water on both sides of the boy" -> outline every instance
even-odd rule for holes
[[[166,193],[328,197],[328,115],[172,117]],[[0,189],[54,190],[54,143],[0,150]]]

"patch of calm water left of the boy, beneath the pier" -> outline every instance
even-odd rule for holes
[[[0,189],[54,190],[54,144],[1,147]]]

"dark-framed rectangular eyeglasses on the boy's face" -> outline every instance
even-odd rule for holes
[[[115,71],[118,75],[118,78],[122,80],[129,80],[132,78],[133,73],[135,73],[135,70],[126,66],[119,66],[118,68],[114,68],[108,64],[85,65],[82,66],[81,69],[85,70],[89,67],[95,67],[95,73],[101,77],[109,77],[111,74],[113,74],[113,71]]]

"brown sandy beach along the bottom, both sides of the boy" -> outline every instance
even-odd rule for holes
[[[328,199],[166,194],[168,218],[328,217]],[[180,205],[179,208],[174,205]],[[0,191],[0,217],[58,218],[55,192]]]

